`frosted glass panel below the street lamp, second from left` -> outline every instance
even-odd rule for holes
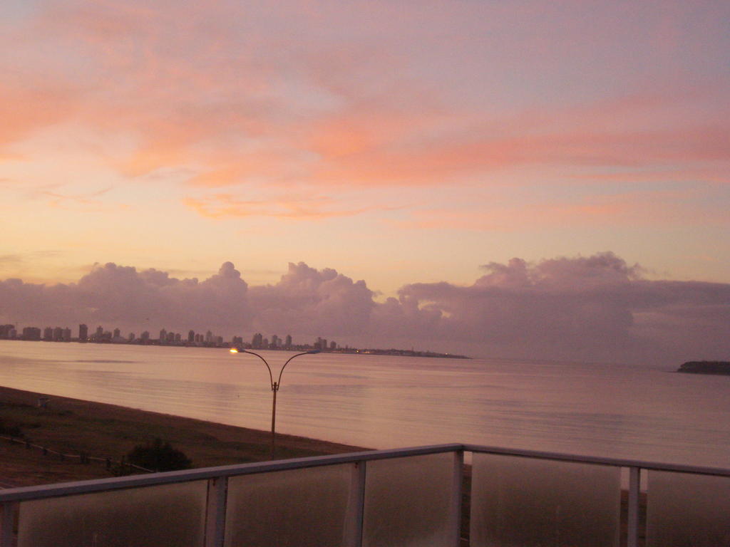
[[[340,547],[353,465],[228,479],[226,547]]]

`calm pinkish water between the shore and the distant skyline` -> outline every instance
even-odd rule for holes
[[[275,372],[288,357],[261,354]],[[306,355],[283,375],[277,431],[730,465],[730,377],[673,366]],[[264,430],[271,419],[263,363],[225,349],[0,341],[0,385]]]

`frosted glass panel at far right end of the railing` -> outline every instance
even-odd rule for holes
[[[730,478],[649,471],[647,547],[730,546]]]

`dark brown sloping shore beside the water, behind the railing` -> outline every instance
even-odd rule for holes
[[[183,451],[194,468],[270,459],[271,440],[268,431],[7,387],[0,387],[0,436],[2,488],[112,476],[105,459],[118,462],[134,446],[155,438]],[[277,458],[363,449],[277,434]],[[80,454],[91,461],[82,463]]]

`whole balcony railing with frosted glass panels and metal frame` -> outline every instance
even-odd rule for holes
[[[730,546],[730,469],[469,444],[28,486],[0,504],[0,547]]]

